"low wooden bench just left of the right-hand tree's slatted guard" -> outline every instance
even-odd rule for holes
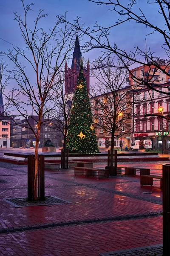
[[[74,175],[85,175],[85,177],[109,178],[109,170],[94,169],[88,167],[74,167]]]

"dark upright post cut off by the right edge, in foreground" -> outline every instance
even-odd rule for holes
[[[162,165],[163,256],[170,255],[170,164]]]

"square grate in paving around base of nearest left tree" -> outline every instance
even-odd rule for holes
[[[44,201],[28,201],[27,198],[4,198],[4,201],[13,205],[14,207],[27,207],[27,206],[40,206],[49,204],[69,204],[70,202],[65,201],[61,198],[54,196],[45,196]]]

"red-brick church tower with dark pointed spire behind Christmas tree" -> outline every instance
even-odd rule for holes
[[[71,68],[68,67],[67,61],[65,61],[65,94],[73,94],[75,87],[77,85],[77,77],[79,76],[80,63],[82,60],[82,54],[79,46],[79,38],[76,35],[76,41],[73,52],[73,59]],[[83,69],[83,73],[85,75],[87,89],[89,91],[90,87],[90,65],[89,61],[87,63],[87,67]]]

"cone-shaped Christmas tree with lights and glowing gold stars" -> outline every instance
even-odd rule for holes
[[[67,136],[67,148],[70,153],[98,153],[95,129],[93,125],[90,100],[81,67],[74,92]]]

